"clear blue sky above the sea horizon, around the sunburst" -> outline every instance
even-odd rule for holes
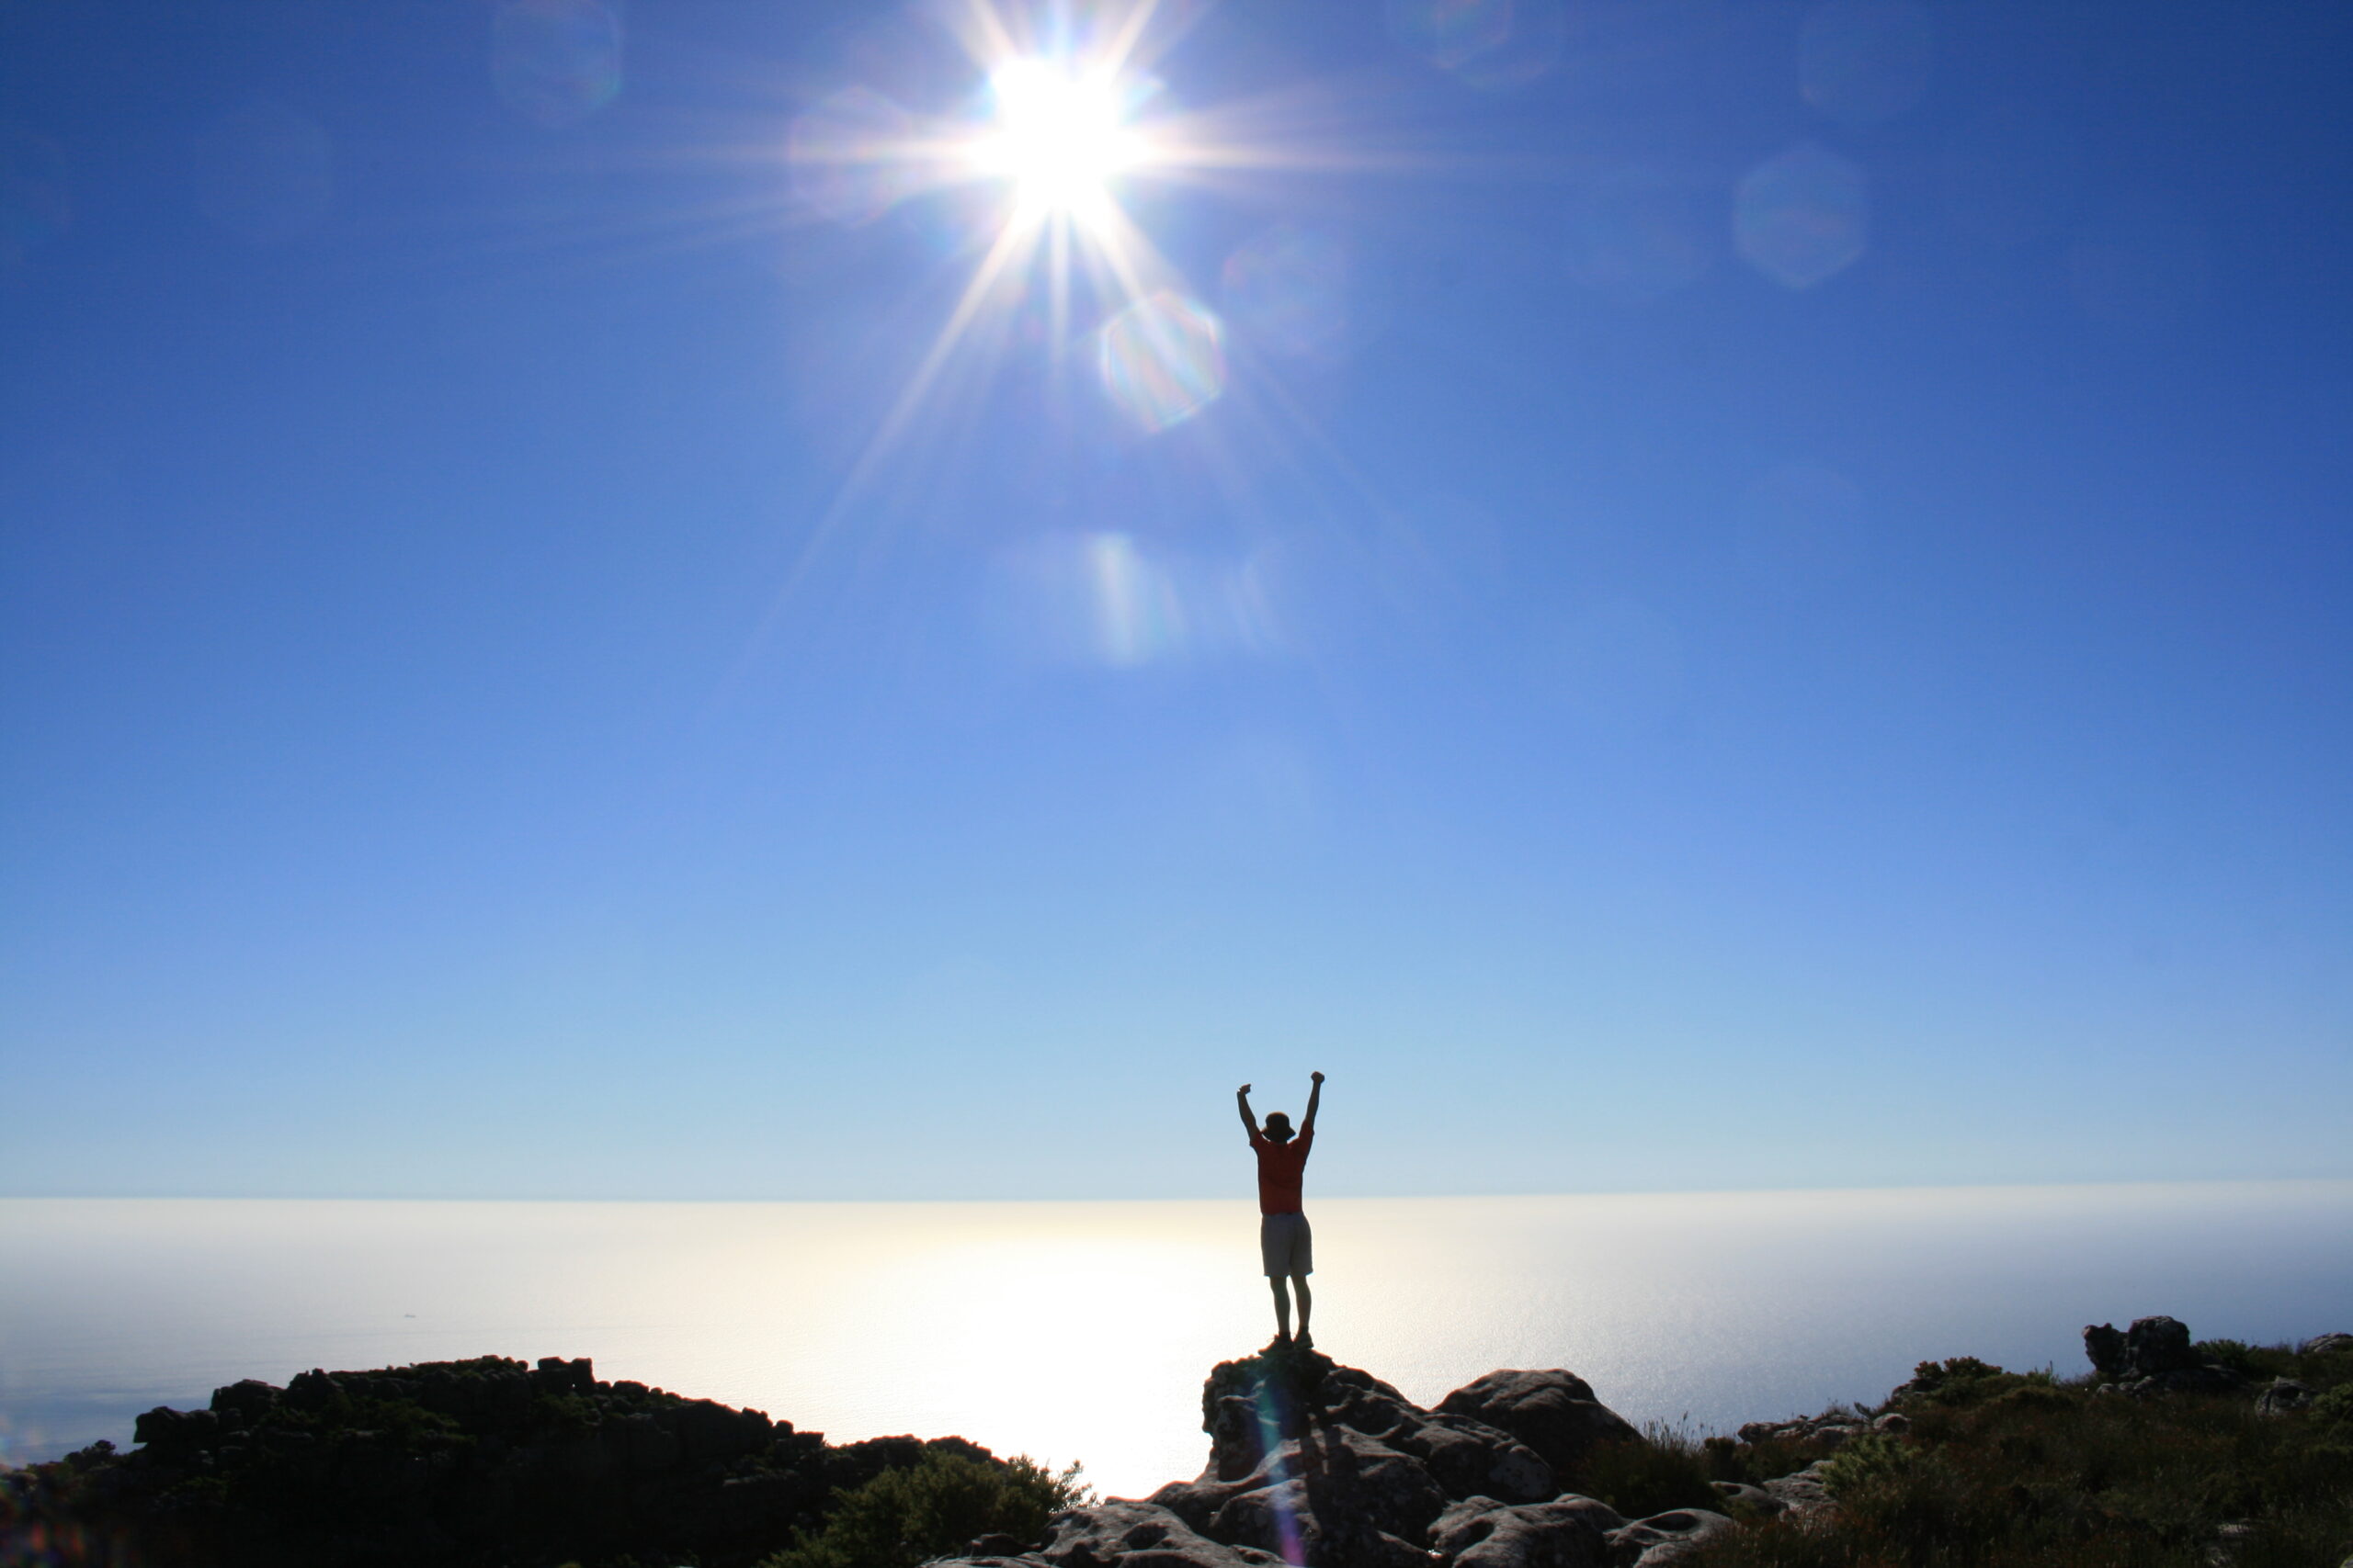
[[[0,5],[0,1192],[2353,1175],[2353,24],[1151,49],[892,423],[939,12]]]

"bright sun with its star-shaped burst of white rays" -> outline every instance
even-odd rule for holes
[[[1167,0],[934,2],[972,68],[969,96],[925,113],[845,85],[793,122],[795,195],[845,226],[958,190],[1000,200],[934,207],[974,226],[972,270],[791,583],[868,487],[913,473],[901,454],[922,440],[925,416],[946,400],[976,402],[1009,353],[1035,346],[1054,376],[1092,374],[1127,430],[1153,435],[1217,404],[1226,327],[1136,221],[1132,195],[1339,167],[1322,150],[1280,146],[1264,118],[1179,108],[1153,66],[1191,12]],[[1153,212],[1181,221],[1167,202]]]

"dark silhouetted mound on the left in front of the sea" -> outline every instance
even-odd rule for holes
[[[819,1523],[835,1488],[927,1448],[991,1460],[962,1439],[835,1446],[553,1356],[245,1380],[205,1410],[148,1410],[134,1436],[132,1453],[99,1443],[0,1479],[0,1561],[12,1526],[40,1523],[120,1537],[139,1561],[238,1568],[739,1568]]]

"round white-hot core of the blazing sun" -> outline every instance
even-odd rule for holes
[[[1108,78],[1021,59],[991,75],[988,87],[995,120],[972,158],[984,174],[1012,181],[1019,205],[1038,216],[1085,221],[1106,212],[1111,181],[1144,160],[1144,141],[1125,125]]]

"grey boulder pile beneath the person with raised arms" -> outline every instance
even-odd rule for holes
[[[1059,1514],[991,1568],[1661,1568],[1729,1519],[1626,1521],[1565,1490],[1602,1443],[1645,1441],[1565,1371],[1489,1373],[1426,1410],[1292,1345],[1226,1361],[1202,1387],[1209,1462],[1144,1502]]]

